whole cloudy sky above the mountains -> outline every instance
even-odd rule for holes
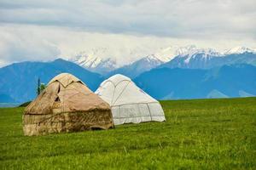
[[[256,1],[0,0],[0,66],[97,48],[136,59],[189,44],[256,48]]]

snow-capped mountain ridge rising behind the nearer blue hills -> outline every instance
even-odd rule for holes
[[[71,61],[89,71],[96,71],[105,77],[116,73],[135,78],[144,71],[155,67],[209,69],[215,66],[247,63],[256,65],[256,50],[245,47],[230,48],[222,53],[212,48],[196,48],[195,45],[185,47],[163,48],[155,54],[148,54],[132,63],[116,65],[114,59],[97,57],[91,54],[78,54]]]

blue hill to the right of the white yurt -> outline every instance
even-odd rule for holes
[[[256,95],[256,67],[224,65],[210,70],[158,68],[134,80],[156,99],[201,99]]]

